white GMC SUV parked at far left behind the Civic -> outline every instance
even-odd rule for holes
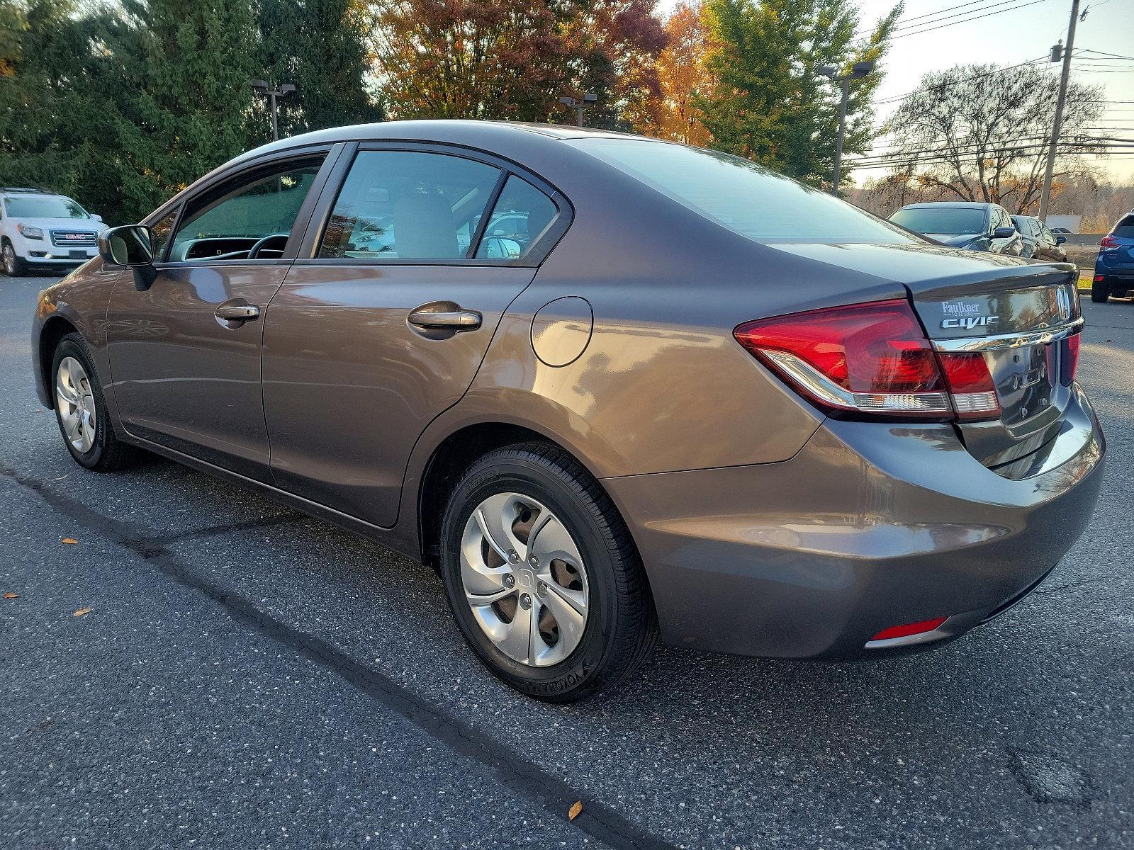
[[[39,189],[0,188],[0,256],[6,274],[28,266],[71,269],[99,253],[102,219],[69,197]]]

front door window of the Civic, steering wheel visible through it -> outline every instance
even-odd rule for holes
[[[321,162],[289,163],[189,202],[171,262],[274,260],[284,254]]]

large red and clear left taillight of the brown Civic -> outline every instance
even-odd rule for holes
[[[793,389],[833,410],[936,419],[1000,413],[983,355],[934,355],[905,300],[761,318],[733,333]]]

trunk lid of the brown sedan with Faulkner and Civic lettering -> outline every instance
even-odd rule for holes
[[[1073,264],[931,246],[776,247],[905,284],[936,349],[980,352],[1000,416],[957,428],[985,466],[1014,464],[1059,434],[1072,400],[1067,338],[1083,324]]]

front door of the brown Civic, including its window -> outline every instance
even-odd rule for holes
[[[229,172],[153,223],[153,282],[139,290],[133,272],[119,273],[107,315],[115,399],[129,433],[270,481],[262,314],[302,239],[293,230],[310,218],[328,153]]]

